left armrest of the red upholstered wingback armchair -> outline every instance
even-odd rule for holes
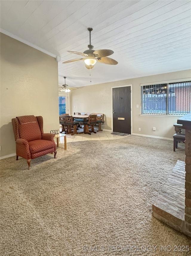
[[[16,140],[16,155],[24,157],[25,159],[31,159],[29,143],[24,139]]]

